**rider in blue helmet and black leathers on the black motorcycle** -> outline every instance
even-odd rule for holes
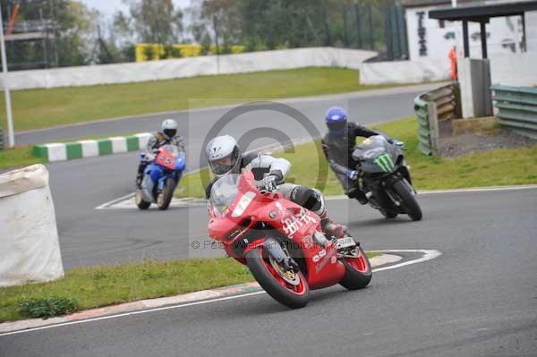
[[[366,204],[367,197],[357,183],[359,173],[355,167],[359,163],[354,162],[352,155],[356,137],[369,138],[372,135],[384,135],[390,142],[395,142],[395,140],[383,132],[368,129],[359,123],[348,122],[345,109],[340,106],[329,108],[325,121],[328,133],[322,139],[322,149],[328,164],[345,189],[345,194],[350,199],[358,200],[362,205]]]

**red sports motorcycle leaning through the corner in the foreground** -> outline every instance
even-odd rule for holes
[[[260,191],[251,172],[214,183],[209,215],[209,236],[290,308],[305,306],[310,289],[340,284],[354,290],[371,281],[359,243],[350,236],[327,239],[317,215],[277,191]]]

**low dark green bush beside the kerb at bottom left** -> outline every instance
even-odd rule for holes
[[[48,319],[55,316],[67,315],[79,309],[78,302],[70,298],[42,298],[22,300],[19,313],[27,318]]]

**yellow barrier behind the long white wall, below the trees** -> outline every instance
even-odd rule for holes
[[[148,61],[148,47],[151,48],[151,52],[150,52],[150,54],[152,55],[151,60],[179,58],[179,57],[195,57],[197,55],[201,55],[200,45],[173,44],[171,45],[171,50],[169,51],[169,53],[166,53],[166,45],[138,43],[135,45],[136,62]],[[222,53],[222,50],[223,50],[223,47],[220,47],[220,53]],[[178,55],[178,51],[180,51],[180,55]],[[244,52],[243,46],[231,47],[232,54],[240,54],[243,52]],[[216,46],[209,47],[210,55],[215,55],[216,53],[217,53]]]

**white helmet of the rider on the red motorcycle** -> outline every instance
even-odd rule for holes
[[[226,174],[238,174],[241,169],[241,149],[229,135],[210,140],[205,149],[210,171],[218,178]]]

